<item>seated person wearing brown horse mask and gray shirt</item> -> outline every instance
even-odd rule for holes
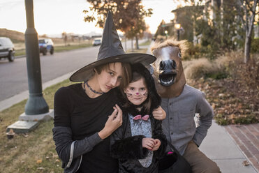
[[[198,149],[212,126],[214,112],[205,93],[186,84],[182,65],[182,54],[186,49],[186,40],[174,39],[151,47],[157,59],[154,62],[156,89],[162,99],[161,107],[167,114],[162,123],[163,133],[188,161],[193,173],[218,173],[220,169],[216,163]],[[199,114],[197,127],[195,114]]]

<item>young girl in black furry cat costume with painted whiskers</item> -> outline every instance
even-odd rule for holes
[[[132,80],[121,90],[123,123],[112,134],[111,156],[119,158],[119,172],[158,172],[157,158],[167,143],[161,121],[151,113],[161,98],[149,70],[140,63],[133,65]]]

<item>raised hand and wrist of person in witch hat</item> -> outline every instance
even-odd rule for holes
[[[110,136],[119,126],[122,124],[122,111],[118,105],[115,105],[114,111],[109,116],[108,120],[105,123],[103,130],[101,130],[98,135],[101,139],[105,139]]]

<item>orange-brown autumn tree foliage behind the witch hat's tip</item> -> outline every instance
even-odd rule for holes
[[[138,38],[142,36],[146,30],[144,17],[149,17],[152,14],[151,8],[148,10],[144,9],[141,0],[87,1],[91,4],[90,10],[92,14],[84,17],[85,22],[94,22],[94,20],[96,20],[94,13],[97,13],[96,27],[103,28],[105,16],[108,14],[108,11],[111,10],[116,29],[126,33],[128,38],[135,37],[137,42]],[[84,10],[83,12],[89,14],[88,10]]]

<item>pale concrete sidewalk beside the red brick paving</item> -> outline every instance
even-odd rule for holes
[[[259,123],[256,126],[259,126]],[[227,129],[232,129],[233,127],[235,127],[235,125],[219,126],[213,122],[205,140],[200,145],[200,151],[205,153],[208,158],[214,160],[222,173],[258,172],[256,165],[251,165],[252,163],[248,159],[249,156],[244,154],[244,150],[237,145],[235,140],[233,140],[232,136],[228,133]],[[248,138],[248,141],[249,140],[251,141],[252,138]],[[244,166],[244,161],[248,161],[249,165]]]

